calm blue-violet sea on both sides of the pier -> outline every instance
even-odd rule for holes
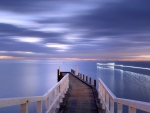
[[[117,96],[150,102],[150,71],[100,66],[89,61],[0,61],[0,98],[39,96],[57,83],[57,69],[79,72],[92,78],[100,77]],[[106,62],[102,62],[106,63]],[[149,62],[116,62],[116,64],[150,68]],[[29,106],[34,113],[35,103]],[[0,113],[18,113],[19,106],[0,108]]]

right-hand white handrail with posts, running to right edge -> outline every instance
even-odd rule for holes
[[[98,80],[99,80],[99,88],[98,88],[99,98],[102,100],[101,102],[104,105],[103,108],[106,108],[107,112],[114,113],[114,111],[111,111],[109,109],[110,108],[109,106],[111,106],[111,105],[106,102],[107,99],[109,99],[113,103],[117,102],[118,106],[120,106],[120,105],[121,106],[122,105],[129,106],[130,109],[133,109],[131,111],[134,111],[135,113],[136,113],[136,109],[150,112],[150,103],[142,102],[142,101],[136,101],[136,100],[132,100],[132,99],[118,98],[109,90],[109,88],[104,84],[104,82],[100,78],[98,78]],[[107,98],[105,96],[106,94],[108,95]],[[108,106],[107,106],[107,104],[108,104]],[[129,110],[129,112],[130,112],[130,110]]]

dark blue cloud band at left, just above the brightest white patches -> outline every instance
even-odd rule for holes
[[[35,30],[30,30],[27,28],[21,28],[17,27],[11,24],[3,24],[0,23],[0,32],[3,33],[3,37],[8,37],[8,36],[19,36],[19,37],[39,37],[39,38],[44,38],[47,41],[55,42],[60,36],[62,36],[62,33],[44,33],[41,31],[35,31]]]

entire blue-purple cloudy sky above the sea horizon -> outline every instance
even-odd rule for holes
[[[0,59],[150,60],[150,0],[0,0]]]

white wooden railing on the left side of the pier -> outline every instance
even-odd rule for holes
[[[0,108],[20,105],[20,113],[28,113],[28,103],[36,102],[36,112],[42,113],[42,101],[45,101],[45,113],[54,113],[59,108],[67,89],[69,88],[69,75],[66,74],[55,86],[53,86],[43,96],[5,98],[0,99]]]

